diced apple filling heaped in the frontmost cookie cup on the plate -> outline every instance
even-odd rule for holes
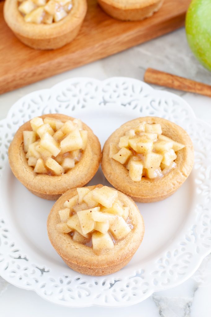
[[[57,230],[71,233],[76,243],[92,245],[96,254],[114,248],[133,229],[132,223],[127,223],[129,207],[122,204],[118,191],[107,186],[91,191],[82,187],[77,192],[59,210]]]

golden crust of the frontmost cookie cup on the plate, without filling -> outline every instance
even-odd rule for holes
[[[96,187],[102,187],[102,185],[88,186],[90,190]],[[76,189],[71,189],[64,193],[56,201],[49,213],[47,230],[52,246],[62,257],[63,261],[79,273],[99,276],[119,271],[131,260],[143,239],[144,223],[138,207],[130,197],[118,192],[120,200],[129,206],[129,217],[134,228],[129,232],[128,236],[115,244],[114,249],[105,251],[101,255],[96,255],[92,248],[75,242],[68,234],[62,234],[56,230],[56,224],[60,222],[58,210],[63,207],[67,199],[76,194]]]

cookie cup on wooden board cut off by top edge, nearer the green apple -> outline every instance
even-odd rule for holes
[[[138,21],[158,11],[163,0],[98,0],[101,8],[115,19]]]

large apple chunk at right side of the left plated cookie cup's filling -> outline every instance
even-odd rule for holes
[[[69,133],[69,135],[60,143],[61,151],[63,153],[79,150],[82,148],[82,146],[83,141],[78,129],[75,129],[73,132]]]

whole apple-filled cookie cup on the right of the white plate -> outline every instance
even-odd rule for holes
[[[180,126],[158,117],[128,121],[111,134],[102,171],[116,189],[148,203],[172,195],[188,178],[193,144]]]

